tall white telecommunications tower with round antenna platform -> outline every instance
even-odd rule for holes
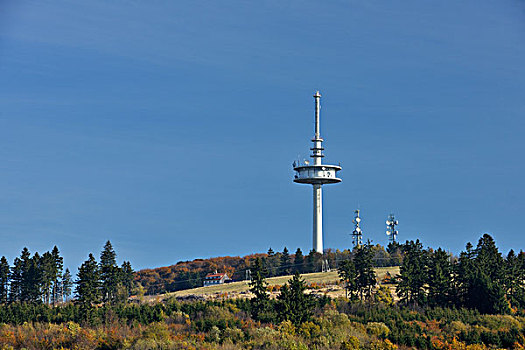
[[[322,185],[341,182],[337,177],[337,172],[342,168],[339,165],[323,164],[323,139],[320,132],[320,100],[321,94],[317,91],[315,99],[315,134],[312,139],[313,147],[310,148],[313,164],[305,161],[304,163],[294,162],[295,170],[294,182],[309,184],[313,186],[314,195],[314,222],[313,222],[313,249],[318,253],[323,253],[323,193]]]

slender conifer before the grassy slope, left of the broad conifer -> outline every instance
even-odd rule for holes
[[[268,283],[266,283],[266,271],[261,259],[255,259],[255,264],[251,269],[252,280],[250,291],[254,297],[250,299],[250,310],[252,318],[264,321],[268,318],[269,300]]]

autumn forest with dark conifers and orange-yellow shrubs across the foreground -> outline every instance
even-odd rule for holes
[[[346,297],[309,293],[301,277],[309,266],[308,255],[299,263],[301,255],[296,252],[289,255],[290,260],[276,253],[248,258],[251,282],[246,298],[183,301],[170,297],[149,302],[127,297],[140,290],[137,278],[133,280],[128,262],[116,264],[110,242],[98,262],[90,254],[79,267],[72,298],[64,297],[67,279],[63,278],[65,272],[59,273],[60,264],[54,265],[58,272],[51,275],[58,277],[45,280],[48,272],[43,256],[48,255],[35,253],[20,258],[24,264],[15,261],[12,267],[8,265],[8,283],[4,286],[7,297],[0,306],[0,347],[524,348],[523,252],[503,255],[489,235],[483,235],[476,246],[467,244],[459,256],[441,248],[425,249],[419,241],[392,244],[385,253],[389,259],[391,254],[399,259],[400,273],[379,281],[374,270],[379,261],[374,260],[377,250],[377,246],[365,244],[352,251],[332,253],[332,266],[337,265]],[[58,249],[54,255],[59,256]],[[272,273],[279,273],[278,269],[272,272],[272,258],[279,260],[281,268],[289,268],[287,273],[294,273],[276,297],[270,295],[266,281]],[[313,262],[310,266],[315,266]],[[17,266],[21,266],[22,277],[17,275],[13,280]],[[40,271],[36,274],[39,277],[34,277],[35,271]],[[15,283],[14,292],[12,281],[19,283]],[[38,283],[31,285],[30,281]]]

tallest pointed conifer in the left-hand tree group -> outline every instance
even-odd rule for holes
[[[120,271],[117,266],[117,254],[110,241],[104,245],[100,253],[100,282],[103,302],[113,302],[119,285]]]

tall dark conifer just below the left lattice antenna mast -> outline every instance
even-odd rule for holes
[[[373,257],[374,253],[372,252],[370,242],[356,248],[354,257],[356,288],[361,299],[364,299],[364,296],[370,297],[372,295],[372,288],[377,283],[377,276],[372,263]]]

